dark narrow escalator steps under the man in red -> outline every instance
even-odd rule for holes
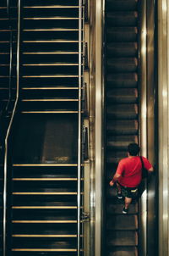
[[[138,2],[106,0],[106,181],[127,147],[138,142]],[[139,253],[138,203],[123,214],[123,200],[106,186],[106,255]]]

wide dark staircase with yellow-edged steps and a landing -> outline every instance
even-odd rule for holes
[[[21,1],[19,110],[8,150],[7,255],[83,255],[79,9],[77,0]]]

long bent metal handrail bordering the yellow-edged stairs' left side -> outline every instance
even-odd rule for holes
[[[5,152],[4,152],[4,176],[3,176],[3,256],[6,254],[7,243],[7,169],[8,169],[8,138],[14,121],[14,115],[19,102],[19,50],[20,50],[20,0],[18,1],[18,36],[17,36],[17,64],[16,64],[16,98],[14,102],[14,109],[11,114],[11,119],[8,125],[8,131],[5,137]]]

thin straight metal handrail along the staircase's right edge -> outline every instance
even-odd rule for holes
[[[78,109],[78,120],[79,120],[79,131],[78,131],[78,234],[77,234],[77,255],[80,256],[80,206],[81,206],[81,87],[82,87],[82,0],[79,0],[79,109]]]

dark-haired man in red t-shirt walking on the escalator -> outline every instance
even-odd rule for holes
[[[128,158],[120,160],[117,171],[110,181],[110,186],[117,182],[117,198],[125,198],[123,214],[128,214],[128,206],[133,198],[137,197],[138,186],[142,180],[142,162],[139,153],[139,146],[136,143],[128,145]],[[153,171],[149,160],[142,157],[144,168]]]

